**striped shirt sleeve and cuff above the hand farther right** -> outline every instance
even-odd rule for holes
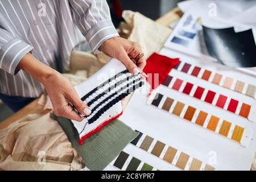
[[[69,0],[69,3],[73,20],[94,53],[105,40],[119,36],[105,0]]]

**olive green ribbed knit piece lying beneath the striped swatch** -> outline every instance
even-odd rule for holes
[[[123,148],[138,136],[137,132],[117,119],[86,139],[80,146],[77,142],[79,133],[72,122],[67,118],[56,117],[54,114],[52,118],[59,122],[73,147],[84,159],[85,166],[92,171],[105,169]]]

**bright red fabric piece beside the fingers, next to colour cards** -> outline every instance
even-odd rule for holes
[[[158,53],[152,53],[147,59],[146,67],[143,69],[143,72],[149,76],[147,82],[151,85],[151,90],[158,88],[166,79],[168,73],[171,72],[172,68],[179,64],[179,62],[180,60],[178,58],[172,59],[167,56],[159,55]],[[158,76],[155,74],[158,74]],[[155,78],[159,80],[157,81]]]

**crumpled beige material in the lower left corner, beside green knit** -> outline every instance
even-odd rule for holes
[[[49,115],[27,115],[0,130],[0,170],[84,168],[81,156]]]

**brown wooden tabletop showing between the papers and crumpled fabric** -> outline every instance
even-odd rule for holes
[[[176,20],[179,20],[182,15],[183,13],[180,11],[178,7],[176,7],[166,15],[163,15],[162,17],[160,17],[158,20],[156,20],[156,22],[159,24],[162,24],[163,26],[168,27],[172,22],[176,22]],[[23,109],[11,115],[9,118],[0,122],[0,130],[9,126],[11,123],[17,121],[18,119],[26,117],[26,115],[28,114],[46,114],[49,111],[51,111],[51,110],[44,110],[43,106],[38,104],[38,100],[39,99],[36,99],[35,101],[31,102],[27,106],[23,107]]]

